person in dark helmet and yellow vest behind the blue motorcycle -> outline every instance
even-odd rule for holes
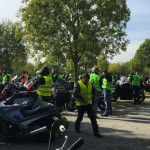
[[[52,77],[50,77],[50,70],[48,67],[44,67],[40,71],[40,76],[33,83],[33,87],[37,88],[36,92],[45,102],[50,102]]]

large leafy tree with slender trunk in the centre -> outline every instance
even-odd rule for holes
[[[78,65],[92,54],[113,57],[126,51],[126,0],[24,0],[20,15],[26,39],[45,55],[72,60],[75,81]],[[57,52],[56,52],[57,51]],[[88,60],[88,59],[87,59]]]

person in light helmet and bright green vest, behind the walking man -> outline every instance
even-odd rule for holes
[[[90,74],[90,81],[93,84],[93,87],[95,88],[95,99],[93,101],[93,107],[94,107],[94,112],[95,112],[95,116],[96,118],[98,118],[97,116],[97,110],[98,110],[98,103],[99,103],[99,98],[100,98],[100,82],[101,82],[101,78],[99,75],[99,68],[98,67],[94,67],[92,68],[92,73]]]

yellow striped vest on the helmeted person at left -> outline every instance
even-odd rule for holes
[[[37,94],[40,96],[51,96],[52,78],[50,76],[43,77],[46,83],[38,87]]]

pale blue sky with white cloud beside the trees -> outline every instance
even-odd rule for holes
[[[16,13],[20,4],[21,0],[0,0],[0,20],[17,21]],[[150,0],[127,0],[127,6],[131,11],[126,29],[130,43],[127,51],[116,55],[110,60],[111,63],[130,61],[144,40],[150,38]]]

